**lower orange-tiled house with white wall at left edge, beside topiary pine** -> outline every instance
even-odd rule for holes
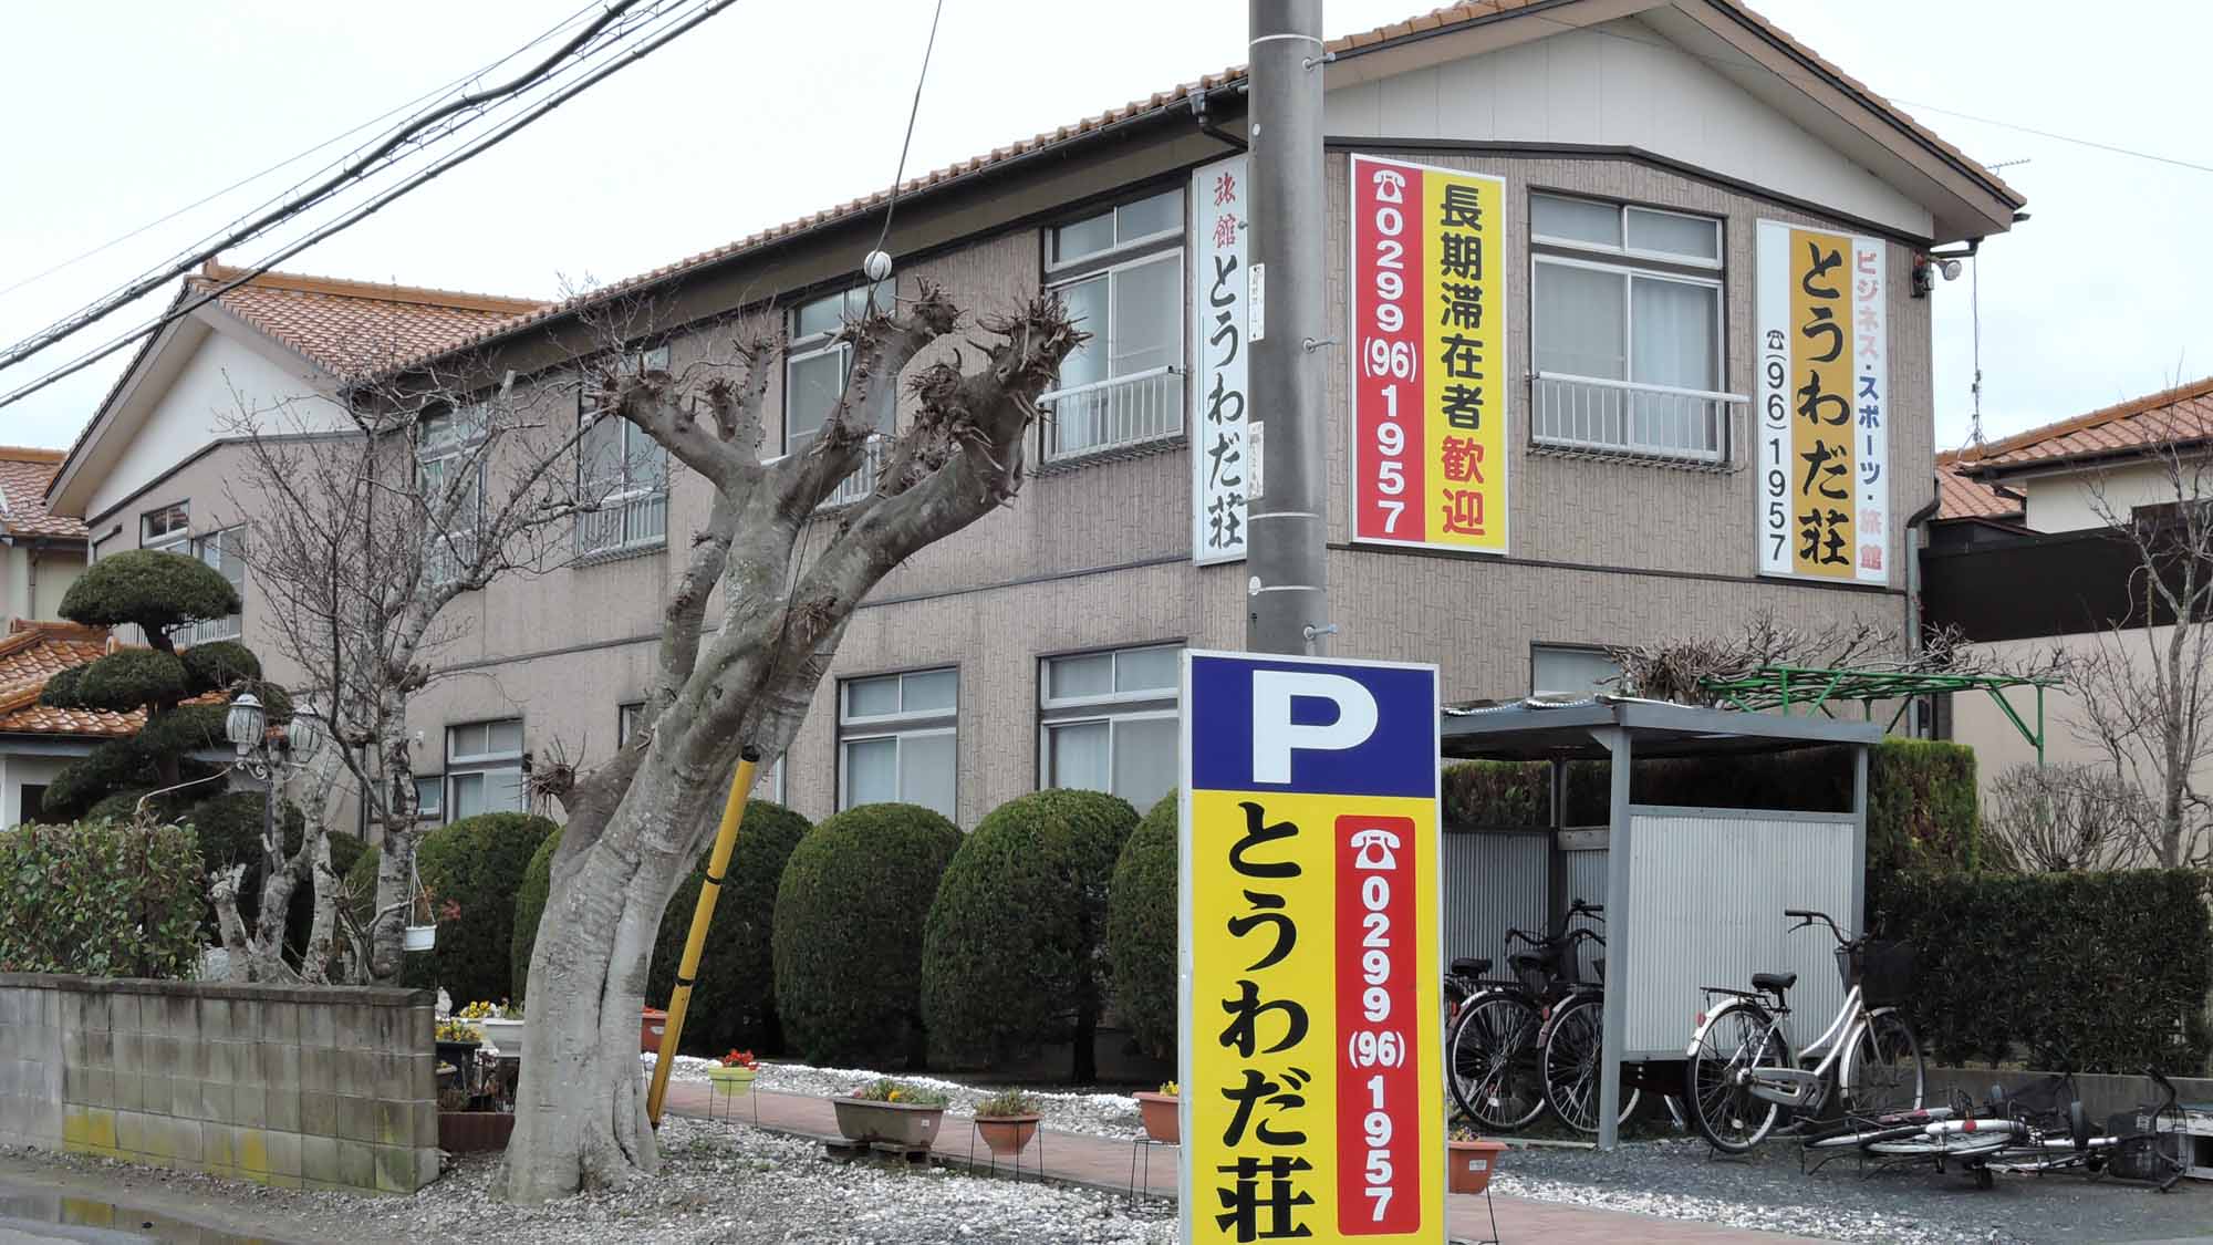
[[[108,634],[73,622],[15,618],[0,640],[0,826],[38,820],[46,784],[93,747],[131,735],[144,713],[51,709],[38,702],[46,680],[108,651]]]

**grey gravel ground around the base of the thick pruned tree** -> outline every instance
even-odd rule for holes
[[[1014,1183],[945,1167],[839,1163],[819,1143],[668,1117],[662,1172],[620,1194],[540,1207],[491,1196],[496,1156],[469,1156],[412,1198],[263,1190],[179,1172],[131,1170],[224,1207],[232,1227],[266,1223],[292,1241],[531,1241],[547,1245],[1173,1245],[1168,1203],[1067,1185]],[[117,1183],[100,1159],[44,1156]],[[128,1192],[115,1198],[131,1203]]]

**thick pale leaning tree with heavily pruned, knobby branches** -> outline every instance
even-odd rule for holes
[[[808,447],[770,463],[761,397],[786,352],[775,330],[739,328],[730,366],[595,372],[600,403],[697,472],[715,501],[664,607],[642,729],[558,791],[569,826],[531,953],[531,1059],[507,1148],[516,1201],[657,1165],[637,1074],[646,959],[715,831],[739,751],[783,755],[861,598],[914,552],[1014,501],[1036,399],[1084,339],[1058,299],[1036,297],[980,321],[989,339],[969,339],[969,359],[945,348],[954,303],[927,284],[914,295],[845,326],[841,399]],[[925,350],[934,361],[918,363]],[[885,436],[910,363],[914,410]],[[861,470],[870,487],[819,518]]]

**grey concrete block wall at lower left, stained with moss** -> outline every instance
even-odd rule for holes
[[[0,1143],[281,1187],[438,1179],[427,990],[0,973]]]

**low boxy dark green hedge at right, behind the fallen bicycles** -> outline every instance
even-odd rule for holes
[[[2206,875],[1874,873],[1870,882],[1870,928],[1919,955],[1908,1017],[1932,1059],[2204,1070]]]

